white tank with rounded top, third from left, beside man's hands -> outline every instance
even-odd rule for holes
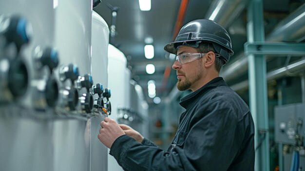
[[[95,85],[100,83],[108,87],[108,44],[109,28],[106,21],[95,11],[92,11],[92,77]],[[109,87],[111,89],[111,87]],[[94,95],[97,98],[98,95]],[[110,98],[110,101],[112,101]],[[108,171],[108,151],[98,139],[102,117],[91,118],[91,171]]]

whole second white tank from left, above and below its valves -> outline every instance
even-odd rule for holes
[[[78,66],[80,76],[91,74],[92,0],[55,2],[55,45],[59,65],[72,63]],[[71,86],[71,82],[66,81],[63,85]],[[82,88],[78,95],[84,93],[86,89]],[[77,112],[79,109],[75,113],[79,118],[54,121],[55,171],[90,170],[91,119],[80,117]]]

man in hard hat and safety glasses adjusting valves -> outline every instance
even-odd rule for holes
[[[192,93],[168,151],[110,118],[98,139],[126,171],[254,171],[254,124],[245,102],[219,77],[233,55],[227,31],[197,19],[181,28],[164,49],[176,54],[177,88]]]

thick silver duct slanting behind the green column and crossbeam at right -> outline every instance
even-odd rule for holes
[[[299,42],[305,39],[305,3],[283,19],[274,30],[267,36],[266,41],[288,41]],[[240,76],[248,70],[248,58],[246,56],[238,56],[240,60],[225,66],[221,76],[226,81],[232,80]],[[234,71],[234,73],[233,73]],[[238,71],[238,72],[236,72]]]

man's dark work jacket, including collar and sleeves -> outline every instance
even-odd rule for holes
[[[254,171],[254,124],[247,104],[217,77],[181,99],[186,109],[167,152],[118,137],[111,149],[125,171]]]

